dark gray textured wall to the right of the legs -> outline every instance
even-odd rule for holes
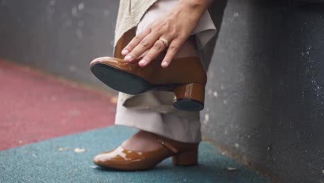
[[[284,182],[324,182],[324,6],[228,0],[204,134]]]

